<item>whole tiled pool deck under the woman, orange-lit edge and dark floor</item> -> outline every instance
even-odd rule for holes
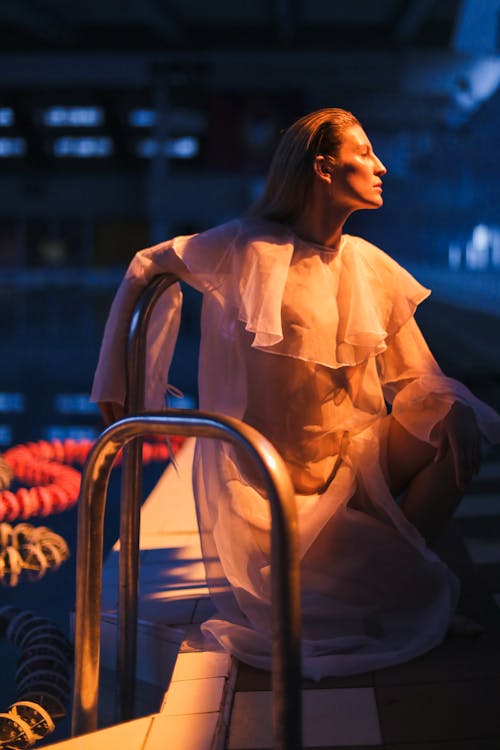
[[[143,506],[137,718],[109,726],[115,546],[103,577],[106,669],[100,726],[108,726],[66,741],[68,750],[97,750],[110,743],[126,750],[272,747],[269,673],[211,650],[199,637],[199,622],[210,613],[211,603],[190,488],[191,454],[188,441],[179,456],[179,475],[167,469]],[[500,748],[499,486],[500,457],[490,454],[439,550],[462,580],[461,611],[481,622],[484,632],[449,637],[428,654],[396,667],[304,680],[304,748]]]

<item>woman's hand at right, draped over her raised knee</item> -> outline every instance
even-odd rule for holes
[[[456,401],[443,419],[434,461],[442,461],[451,451],[457,486],[465,492],[481,467],[481,433],[470,406]]]

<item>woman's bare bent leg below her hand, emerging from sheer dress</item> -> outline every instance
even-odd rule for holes
[[[391,492],[398,496],[405,491],[401,510],[429,546],[444,531],[463,495],[457,486],[451,451],[437,463],[435,455],[432,445],[390,418],[387,465]]]

